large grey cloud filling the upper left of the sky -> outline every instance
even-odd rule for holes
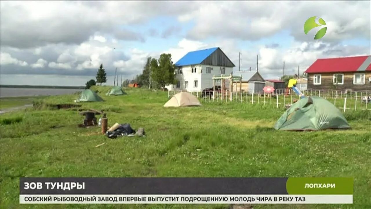
[[[0,5],[1,45],[33,48],[57,43],[81,44],[96,32],[114,32],[118,25],[141,23],[162,12],[175,15],[181,5],[187,3],[4,1]],[[130,33],[116,35],[125,39]]]

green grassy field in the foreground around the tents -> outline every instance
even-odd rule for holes
[[[345,113],[347,131],[283,132],[284,112],[251,103],[164,108],[167,93],[131,89],[83,107],[107,112],[108,125],[144,127],[146,138],[109,139],[78,128],[76,110],[1,115],[0,208],[209,208],[227,205],[19,205],[19,177],[354,177],[353,205],[255,205],[254,208],[371,208],[370,111]],[[44,103],[73,103],[75,95]],[[60,128],[51,126],[60,125]],[[95,148],[95,145],[105,145]]]

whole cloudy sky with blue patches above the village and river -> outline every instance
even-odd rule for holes
[[[370,55],[370,1],[1,1],[0,83],[84,86],[103,64],[113,84],[147,57],[220,47],[266,79],[303,72],[318,58]],[[314,40],[303,25],[321,17]]]

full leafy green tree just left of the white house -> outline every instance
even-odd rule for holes
[[[171,54],[161,54],[158,61],[151,60],[151,78],[158,84],[158,87],[164,89],[167,84],[175,84],[175,66],[171,61]]]

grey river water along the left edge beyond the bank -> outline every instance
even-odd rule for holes
[[[0,88],[0,97],[22,97],[22,96],[49,96],[60,94],[73,94],[83,89],[27,89],[27,88]]]

